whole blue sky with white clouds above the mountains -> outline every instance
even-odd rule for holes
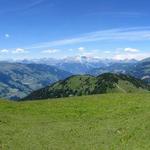
[[[149,0],[0,0],[0,59],[150,57]]]

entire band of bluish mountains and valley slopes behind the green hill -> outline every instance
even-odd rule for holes
[[[150,58],[109,60],[86,56],[0,62],[0,97],[17,100],[72,75],[121,73],[150,83]]]

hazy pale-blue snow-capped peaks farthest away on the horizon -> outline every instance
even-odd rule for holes
[[[43,59],[22,60],[19,62],[23,64],[35,63],[35,64],[51,65],[76,75],[76,74],[87,74],[90,73],[90,71],[92,71],[93,69],[99,69],[99,68],[102,68],[103,70],[107,70],[109,66],[116,65],[116,64],[117,65],[125,64],[129,66],[137,63],[138,61],[134,59],[113,60],[113,59],[100,59],[97,57],[74,56],[74,57],[66,57],[62,59],[43,58]],[[110,68],[108,68],[108,71],[109,70]]]

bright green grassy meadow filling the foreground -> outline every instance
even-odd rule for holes
[[[0,149],[150,149],[150,94],[0,101]]]

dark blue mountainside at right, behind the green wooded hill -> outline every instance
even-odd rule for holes
[[[131,75],[150,83],[150,58],[142,61],[130,61],[128,63],[110,63],[108,66],[91,69],[87,74],[97,76],[107,72]]]

